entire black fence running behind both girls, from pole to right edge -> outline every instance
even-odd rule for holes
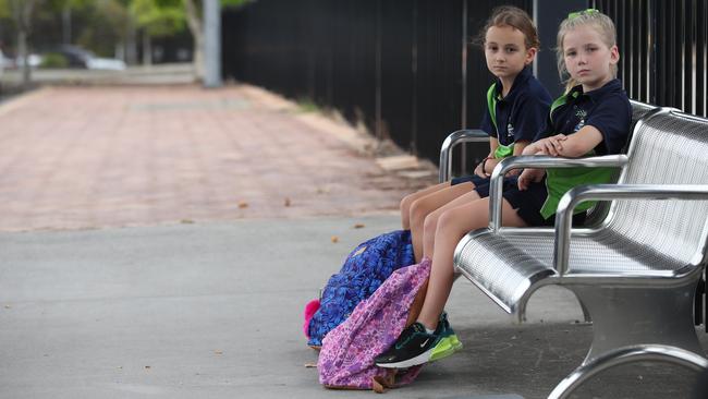
[[[492,77],[471,39],[500,3],[259,0],[223,13],[224,75],[337,109],[378,137],[437,160],[447,134],[477,128],[485,111]],[[533,13],[533,0],[503,3]],[[537,3],[536,14],[553,28],[558,21],[548,15],[556,9],[559,17],[562,8],[579,3],[606,12],[618,26],[620,77],[630,97],[708,114],[706,0]],[[545,41],[548,55],[554,44]],[[553,92],[554,82],[544,83]]]

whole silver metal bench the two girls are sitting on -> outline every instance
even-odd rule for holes
[[[707,154],[708,120],[655,109],[636,123],[626,156],[524,156],[495,169],[490,225],[461,240],[455,270],[520,322],[540,287],[575,293],[593,319],[593,343],[549,398],[566,398],[593,375],[634,361],[708,368],[693,318],[707,256]],[[500,226],[509,170],[600,166],[622,168],[618,183],[571,190],[554,229]],[[609,213],[596,227],[572,229],[573,208],[588,200],[611,201]]]

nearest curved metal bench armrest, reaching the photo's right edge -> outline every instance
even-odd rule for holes
[[[704,184],[590,184],[570,190],[561,197],[556,211],[553,267],[559,276],[567,270],[573,209],[585,201],[611,200],[708,200]]]

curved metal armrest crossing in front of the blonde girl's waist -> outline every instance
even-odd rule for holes
[[[558,158],[538,155],[524,155],[521,157],[509,157],[497,164],[491,173],[489,185],[489,228],[497,231],[501,228],[501,191],[503,177],[512,169],[520,168],[599,168],[599,167],[624,167],[627,162],[626,155],[605,155],[601,157],[588,158]]]

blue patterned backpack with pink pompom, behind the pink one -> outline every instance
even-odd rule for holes
[[[322,338],[339,326],[363,300],[369,298],[393,270],[415,263],[410,230],[391,231],[361,243],[332,275],[319,299],[305,309],[307,344],[322,346]]]

